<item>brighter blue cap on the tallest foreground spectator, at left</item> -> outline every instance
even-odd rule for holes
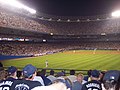
[[[23,75],[25,78],[29,78],[35,73],[36,70],[37,69],[35,66],[28,64],[23,68]]]

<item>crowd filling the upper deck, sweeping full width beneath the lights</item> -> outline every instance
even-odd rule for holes
[[[32,19],[0,8],[0,27],[27,31],[39,31],[58,35],[111,34],[120,33],[119,19],[96,20],[88,22],[57,22]]]

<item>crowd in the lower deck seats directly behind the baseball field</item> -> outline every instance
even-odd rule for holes
[[[69,43],[26,43],[26,42],[4,42],[0,43],[1,55],[15,56],[40,56],[44,54],[53,54],[66,50],[94,50],[94,49],[109,49],[119,50],[119,42],[69,42]]]

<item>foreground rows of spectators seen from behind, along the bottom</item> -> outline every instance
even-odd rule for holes
[[[0,72],[2,75],[4,74],[0,77],[0,88],[9,88],[9,90],[20,88],[20,90],[120,89],[120,71],[118,70],[89,70],[88,75],[84,75],[82,72],[76,73],[75,70],[70,70],[70,75],[63,71],[55,74],[55,71],[51,70],[49,75],[46,73],[46,69],[37,71],[35,66],[28,64],[22,71],[19,71],[20,75],[14,66],[8,67],[7,70],[2,69]]]

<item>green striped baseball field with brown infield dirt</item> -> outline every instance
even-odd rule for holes
[[[24,67],[33,64],[37,68],[77,69],[77,70],[120,70],[120,51],[113,50],[73,50],[51,55],[2,61],[5,67]]]

